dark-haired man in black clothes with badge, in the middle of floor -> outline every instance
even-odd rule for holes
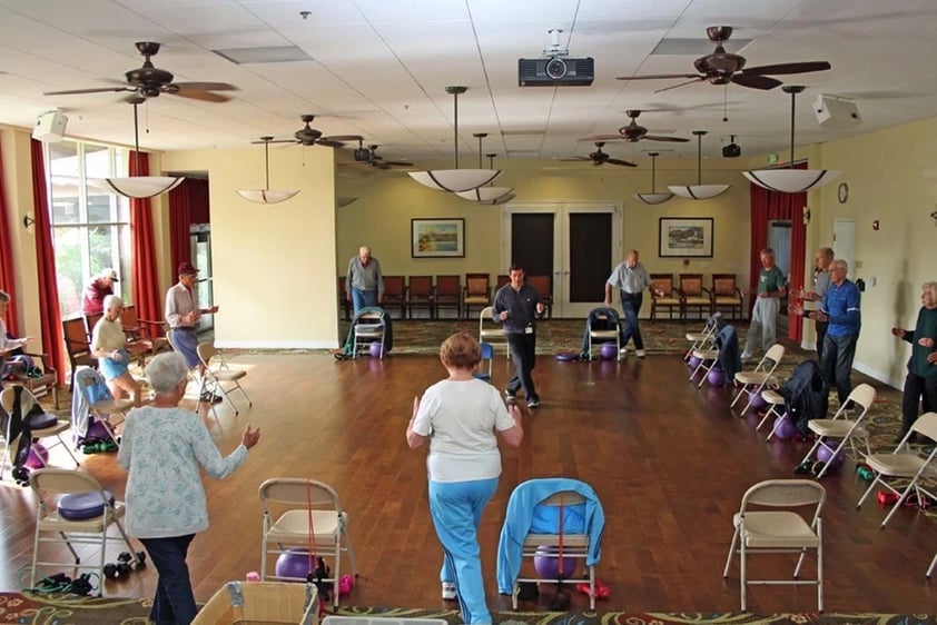
[[[531,373],[536,351],[536,318],[543,316],[543,302],[535,288],[524,281],[524,268],[512,265],[511,281],[494,295],[492,318],[504,326],[511,357],[514,360],[514,377],[504,390],[509,400],[517,398],[517,389],[524,387],[527,408],[540,406]]]

